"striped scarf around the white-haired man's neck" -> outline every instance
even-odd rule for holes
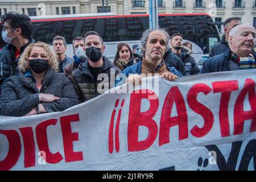
[[[239,57],[236,53],[230,53],[230,60],[240,64],[240,69],[254,69],[256,68],[255,60],[253,55],[248,55],[247,57]]]

